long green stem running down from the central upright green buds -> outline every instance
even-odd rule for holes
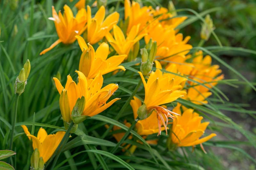
[[[126,102],[124,103],[123,107],[121,108],[121,110],[118,112],[118,114],[116,115],[116,117],[114,118],[114,120],[118,120],[119,117],[124,113],[124,110],[126,109],[126,107],[130,104],[130,101],[132,100],[133,96],[137,93],[140,84],[142,83],[142,80],[140,79],[140,81],[138,82],[138,84],[136,85],[135,89],[133,90],[131,96],[126,100]],[[113,128],[113,124],[111,124],[109,126],[109,128],[104,132],[104,134],[101,136],[101,139],[104,139],[108,132]]]

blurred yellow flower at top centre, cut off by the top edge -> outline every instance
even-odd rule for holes
[[[140,8],[138,2],[132,1],[131,4],[130,0],[124,0],[124,19],[129,19],[127,34],[132,30],[133,26],[138,24],[140,24],[139,34],[145,33],[148,21],[153,19],[151,7],[144,6]]]

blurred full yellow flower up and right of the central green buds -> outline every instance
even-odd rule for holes
[[[185,58],[185,55],[192,48],[191,45],[187,44],[190,36],[183,40],[181,33],[176,34],[175,30],[168,25],[163,27],[158,20],[150,23],[147,31],[148,35],[144,37],[145,42],[148,43],[151,38],[157,42],[156,56],[158,59],[169,60],[176,56]]]

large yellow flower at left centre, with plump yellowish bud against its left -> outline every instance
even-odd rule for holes
[[[60,110],[64,121],[70,122],[71,111],[76,104],[76,100],[82,96],[85,97],[85,107],[81,115],[90,117],[101,113],[117,100],[120,100],[120,98],[115,98],[107,103],[108,99],[118,89],[118,85],[112,83],[101,88],[103,85],[103,77],[101,73],[99,73],[94,79],[88,80],[82,72],[76,71],[76,73],[78,74],[78,83],[76,84],[76,82],[72,80],[71,76],[68,75],[65,89],[61,85],[60,81],[53,77],[60,95],[62,93],[67,94],[66,99],[65,97],[63,100],[60,98]]]

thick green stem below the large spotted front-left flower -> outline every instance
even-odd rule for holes
[[[64,146],[66,145],[66,143],[68,142],[68,138],[69,138],[69,135],[70,135],[69,132],[71,131],[73,125],[74,125],[74,122],[71,122],[71,123],[69,124],[68,130],[66,131],[64,137],[61,139],[60,144],[58,145],[57,149],[56,149],[55,152],[53,153],[51,159],[47,162],[47,164],[46,164],[46,166],[45,166],[45,169],[46,169],[47,166],[49,166],[49,164],[51,163],[52,159],[54,158],[54,155],[56,155],[56,157],[55,157],[55,159],[54,159],[54,161],[53,161],[53,164],[52,164],[51,169],[53,169],[54,166],[56,165],[57,160],[59,159],[59,156],[60,156],[60,153],[61,153],[63,147],[64,147]],[[61,146],[62,146],[62,147],[61,147]]]

